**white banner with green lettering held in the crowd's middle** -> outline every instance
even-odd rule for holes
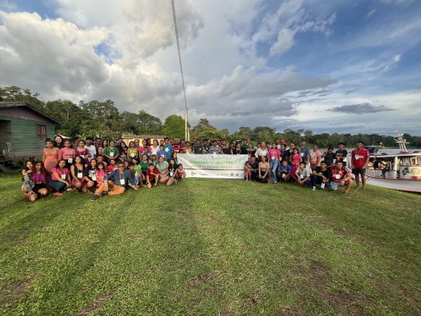
[[[178,154],[187,177],[243,179],[247,154]]]

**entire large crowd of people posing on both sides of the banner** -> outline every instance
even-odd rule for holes
[[[178,154],[247,154],[244,179],[261,183],[291,182],[316,190],[338,190],[345,186],[345,194],[352,187],[353,177],[359,187],[366,185],[364,176],[370,152],[363,143],[356,143],[351,152],[352,171],[347,169],[348,152],[345,144],[338,150],[329,147],[321,152],[319,147],[287,145],[285,140],[274,143],[260,142],[256,147],[250,138],[227,141],[219,137],[213,140],[194,138],[192,143],[178,138],[163,140],[142,139],[126,144],[118,140],[102,140],[87,137],[63,139],[55,136],[47,139],[41,161],[28,160],[22,170],[22,191],[30,201],[53,193],[66,191],[93,194],[92,201],[106,195],[120,195],[128,188],[151,189],[161,185],[173,185],[183,180],[186,172],[178,163]]]

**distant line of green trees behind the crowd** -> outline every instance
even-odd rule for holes
[[[61,99],[44,102],[39,100],[39,93],[32,93],[29,89],[18,86],[0,87],[0,98],[4,101],[27,102],[46,112],[62,122],[62,125],[57,126],[57,132],[64,136],[118,138],[124,134],[130,134],[166,135],[180,139],[185,136],[185,122],[180,115],[169,115],[162,123],[159,117],[155,117],[145,110],[139,110],[138,113],[128,111],[120,113],[112,100],[80,101],[79,104]],[[319,147],[335,147],[340,142],[352,147],[357,140],[362,140],[366,145],[383,143],[385,147],[396,146],[393,136],[379,134],[314,134],[312,131],[304,129],[298,131],[285,129],[279,132],[268,126],[257,126],[254,129],[243,126],[238,131],[229,133],[228,129],[217,129],[210,124],[208,119],[200,119],[199,123],[190,129],[190,136],[200,139],[220,136],[227,140],[244,140],[249,137],[254,141],[265,142],[285,139],[287,142],[294,143],[300,143],[304,138],[307,143],[316,144]],[[410,136],[408,133],[403,136],[410,143],[410,147],[421,147],[420,136]]]

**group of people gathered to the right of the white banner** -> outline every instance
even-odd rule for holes
[[[320,185],[321,189],[330,187],[330,190],[338,190],[345,186],[345,194],[354,182],[356,187],[366,185],[365,172],[370,159],[370,151],[363,147],[363,142],[356,143],[356,149],[351,152],[352,171],[347,169],[348,152],[345,143],[339,143],[339,149],[333,152],[333,147],[328,147],[325,152],[320,152],[317,145],[310,150],[307,141],[302,140],[300,147],[290,143],[286,147],[284,140],[278,143],[260,143],[255,154],[251,155],[244,166],[246,180],[256,180],[265,183],[277,183],[279,181],[293,182],[298,185],[312,187]]]

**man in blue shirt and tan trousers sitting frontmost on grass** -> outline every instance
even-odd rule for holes
[[[117,169],[105,176],[104,182],[91,197],[91,201],[95,201],[98,197],[106,195],[121,195],[124,191],[131,186],[133,189],[138,190],[138,185],[135,184],[131,172],[124,169],[124,164],[119,162]]]

